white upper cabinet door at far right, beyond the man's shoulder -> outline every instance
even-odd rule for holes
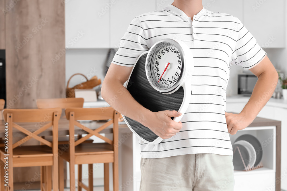
[[[284,3],[284,0],[244,0],[244,25],[261,47],[285,47]]]

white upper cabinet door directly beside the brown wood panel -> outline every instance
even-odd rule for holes
[[[63,1],[64,2],[64,1]],[[65,40],[68,48],[109,48],[109,0],[67,1]]]

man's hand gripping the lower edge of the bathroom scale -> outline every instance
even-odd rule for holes
[[[179,117],[181,113],[177,111],[158,111],[151,112],[148,120],[142,121],[142,124],[148,127],[152,132],[162,139],[168,139],[178,133],[182,128],[181,122],[175,122],[170,117]]]

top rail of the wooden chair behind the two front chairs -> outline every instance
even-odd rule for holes
[[[37,107],[39,109],[47,108],[70,108],[83,107],[84,98],[55,98],[55,99],[37,99]]]

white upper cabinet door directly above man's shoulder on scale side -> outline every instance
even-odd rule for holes
[[[116,1],[110,9],[110,48],[119,48],[121,38],[134,17],[152,12],[155,0]]]

